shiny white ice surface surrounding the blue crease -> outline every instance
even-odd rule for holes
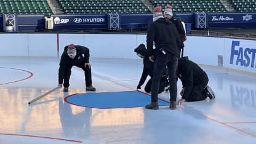
[[[256,143],[255,76],[202,65],[214,100],[184,102],[176,110],[98,109],[63,100],[86,93],[83,71],[73,67],[69,92],[58,89],[28,105],[58,86],[58,63],[58,58],[0,58],[0,143]],[[90,63],[96,93],[136,90],[142,60],[90,58]],[[180,81],[177,86],[179,94]],[[159,98],[169,100],[169,92]]]

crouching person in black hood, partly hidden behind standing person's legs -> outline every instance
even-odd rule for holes
[[[137,53],[138,57],[143,58],[142,76],[140,77],[140,81],[138,82],[137,90],[142,89],[141,86],[146,81],[146,78],[150,76],[150,79],[148,80],[148,82],[146,82],[144,90],[145,92],[151,92],[154,63],[150,61],[148,54],[146,53],[146,46],[144,44],[140,44],[136,49],[134,49],[134,52]],[[167,69],[165,68],[161,76],[158,94],[160,94],[164,90],[167,91],[169,89],[169,81],[167,79],[166,72]]]

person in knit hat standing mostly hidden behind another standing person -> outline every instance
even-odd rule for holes
[[[186,41],[186,32],[183,28],[182,22],[180,22],[180,20],[178,18],[174,18],[173,15],[174,14],[173,14],[173,11],[172,11],[172,6],[169,6],[167,4],[166,9],[164,9],[164,17],[167,18],[168,20],[170,20],[172,23],[174,23],[174,25],[177,28],[178,34],[180,34],[180,39],[182,41],[180,43],[180,46],[178,46],[178,48],[180,48],[180,49],[178,49],[178,52],[179,52],[179,55],[180,55],[180,51],[184,47],[183,42]]]

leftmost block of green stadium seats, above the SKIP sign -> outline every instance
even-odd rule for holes
[[[0,14],[51,15],[47,0],[0,0]]]

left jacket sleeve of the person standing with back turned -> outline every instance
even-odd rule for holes
[[[146,34],[146,49],[148,50],[148,55],[153,55],[153,44],[154,44],[154,25],[151,24],[148,28],[148,34]]]

